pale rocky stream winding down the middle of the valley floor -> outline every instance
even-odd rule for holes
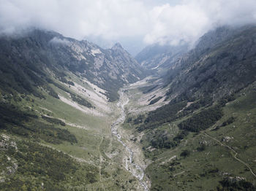
[[[113,122],[111,125],[111,133],[113,136],[116,136],[117,140],[124,146],[124,148],[127,151],[127,157],[125,157],[125,168],[127,171],[129,171],[133,176],[135,176],[136,179],[140,182],[140,185],[144,188],[145,191],[148,191],[148,186],[146,182],[143,181],[144,177],[144,171],[143,168],[140,167],[137,163],[135,163],[132,158],[134,155],[134,152],[132,152],[132,149],[127,146],[127,144],[122,141],[121,135],[118,133],[118,128],[120,125],[124,122],[126,114],[124,112],[124,106],[128,104],[129,98],[127,96],[124,96],[124,89],[119,90],[120,99],[117,103],[118,108],[121,109],[121,115],[118,117],[118,119]]]

